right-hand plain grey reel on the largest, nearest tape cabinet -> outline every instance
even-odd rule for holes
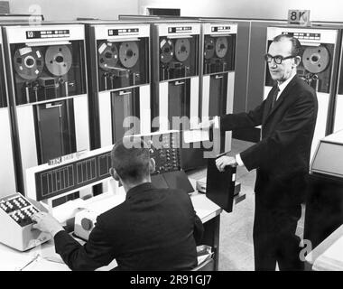
[[[55,76],[66,74],[72,64],[70,48],[66,45],[49,46],[45,52],[47,69]]]

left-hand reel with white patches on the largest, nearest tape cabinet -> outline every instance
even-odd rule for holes
[[[14,70],[27,80],[37,79],[44,68],[42,52],[34,47],[23,47],[14,52]]]

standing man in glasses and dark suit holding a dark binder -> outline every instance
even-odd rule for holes
[[[276,262],[281,270],[301,270],[300,238],[295,230],[306,191],[317,96],[296,75],[301,62],[296,38],[276,36],[264,60],[275,80],[268,97],[248,113],[220,117],[221,130],[262,125],[261,141],[235,157],[218,158],[216,164],[219,171],[227,165],[256,169],[255,270],[274,270]]]

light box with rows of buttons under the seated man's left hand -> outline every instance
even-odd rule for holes
[[[0,198],[0,242],[25,251],[48,241],[50,234],[32,229],[32,215],[39,211],[19,192]]]

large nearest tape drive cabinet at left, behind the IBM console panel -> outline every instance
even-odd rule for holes
[[[27,168],[89,149],[85,30],[80,24],[6,26],[4,39],[24,192]]]

